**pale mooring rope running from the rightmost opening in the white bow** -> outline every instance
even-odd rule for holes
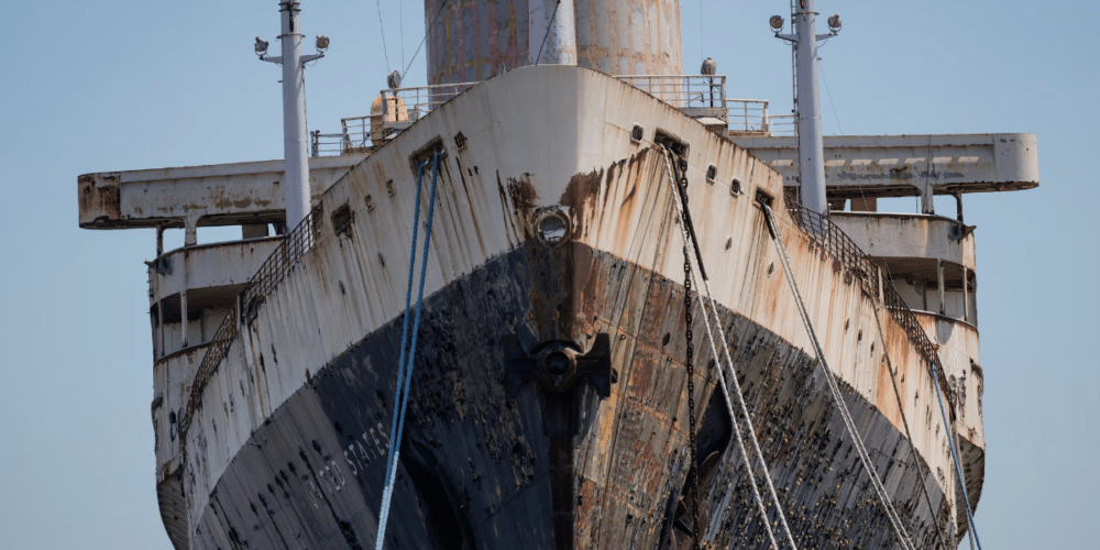
[[[882,485],[882,480],[879,479],[878,470],[876,470],[875,464],[871,463],[871,459],[867,453],[867,448],[864,447],[864,440],[859,436],[859,432],[856,431],[856,422],[851,419],[851,413],[848,410],[847,404],[844,403],[844,396],[840,394],[840,386],[837,384],[836,377],[833,376],[833,371],[829,370],[828,361],[825,359],[825,351],[822,349],[822,344],[817,340],[817,332],[814,330],[813,323],[810,321],[810,314],[806,312],[806,305],[802,300],[802,293],[799,292],[799,284],[794,280],[794,274],[791,272],[790,260],[787,257],[787,248],[783,245],[783,239],[779,234],[779,228],[774,224],[774,215],[772,213],[770,207],[767,205],[761,206],[765,210],[765,220],[768,223],[768,231],[771,233],[771,239],[776,243],[776,249],[779,251],[780,261],[783,263],[783,274],[787,275],[787,283],[790,285],[791,292],[794,293],[794,301],[799,306],[799,315],[802,317],[802,322],[805,324],[806,332],[810,334],[810,342],[813,344],[814,352],[817,354],[817,361],[822,364],[822,371],[825,372],[825,380],[828,382],[833,399],[836,402],[837,408],[840,410],[840,417],[844,419],[844,425],[848,429],[848,435],[851,436],[853,447],[856,448],[856,452],[859,454],[859,460],[864,463],[868,477],[871,479],[871,485],[875,487],[875,493],[878,495],[879,501],[882,502],[882,507],[887,512],[887,518],[890,519],[890,526],[893,528],[894,535],[897,535],[903,548],[915,550],[916,547],[913,546],[913,540],[905,531],[905,526],[902,525],[901,517],[898,515],[898,510],[894,509],[893,503],[890,502],[886,487]]]

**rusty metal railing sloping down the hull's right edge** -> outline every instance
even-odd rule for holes
[[[836,267],[843,267],[847,274],[859,280],[860,287],[868,295],[882,297],[890,317],[905,331],[910,342],[916,348],[921,356],[930,365],[935,364],[938,366],[936,369],[936,378],[939,387],[952,403],[955,403],[955,391],[947,384],[947,376],[944,374],[944,362],[939,359],[938,348],[928,340],[928,334],[921,328],[916,315],[913,314],[905,304],[905,300],[894,289],[890,274],[881,273],[870,256],[865,254],[827,216],[810,210],[794,201],[788,201],[787,209],[794,223],[818,246],[824,249],[825,253],[834,262],[837,262],[838,265]]]

